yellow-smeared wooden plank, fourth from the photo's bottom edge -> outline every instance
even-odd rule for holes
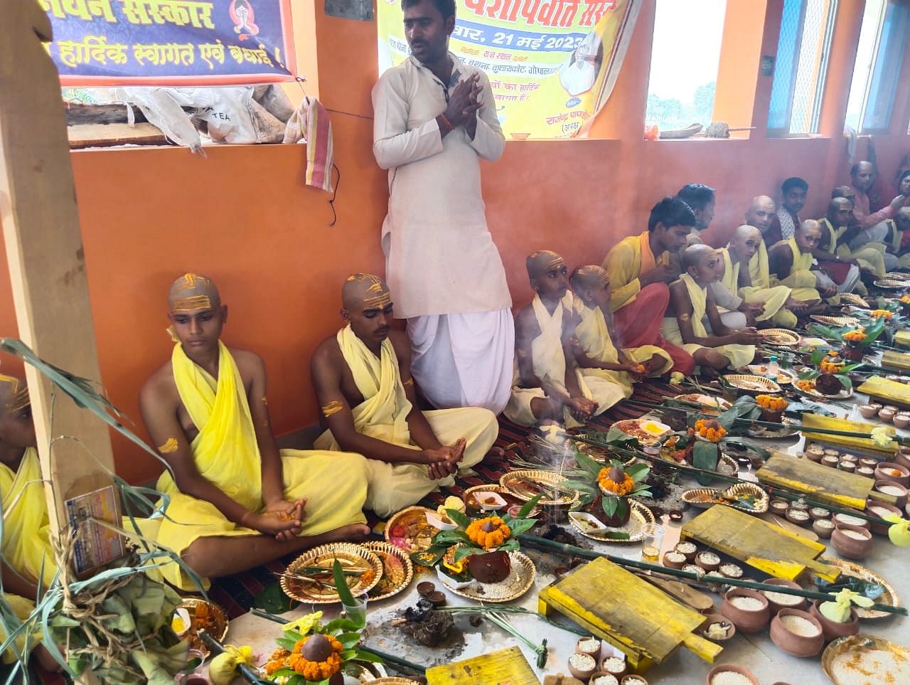
[[[804,493],[825,504],[861,511],[875,486],[875,481],[864,475],[848,474],[839,468],[789,455],[773,455],[755,472],[755,477],[765,485]]]

